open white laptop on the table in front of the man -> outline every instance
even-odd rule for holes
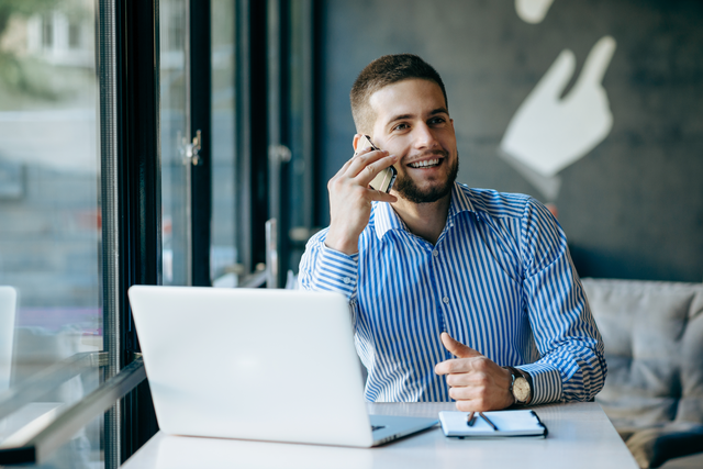
[[[339,293],[134,286],[129,298],[167,434],[371,447],[438,422],[368,415]]]

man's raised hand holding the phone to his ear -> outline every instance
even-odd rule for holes
[[[358,142],[359,135],[355,137]],[[390,193],[371,189],[369,183],[382,170],[398,161],[395,155],[371,148],[359,152],[327,182],[330,191],[330,232],[325,244],[345,254],[358,250],[359,235],[371,216],[371,202],[395,202]]]

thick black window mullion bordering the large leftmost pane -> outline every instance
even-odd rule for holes
[[[140,351],[127,299],[133,284],[161,283],[158,0],[119,3],[118,153],[120,156],[120,367]],[[122,399],[119,451],[124,462],[158,429],[148,384]]]

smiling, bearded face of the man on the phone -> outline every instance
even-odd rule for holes
[[[369,103],[376,113],[373,143],[400,157],[391,192],[414,203],[449,194],[459,158],[454,122],[439,86],[403,80],[376,91]]]

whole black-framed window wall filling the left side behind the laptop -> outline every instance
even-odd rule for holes
[[[118,467],[157,429],[127,288],[260,286],[270,214],[297,264],[311,4],[37,1],[0,21],[0,392],[21,391],[0,398],[0,444],[136,377],[43,460]]]

